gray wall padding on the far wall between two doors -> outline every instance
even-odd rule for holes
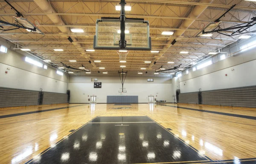
[[[107,103],[138,103],[139,96],[107,96]]]

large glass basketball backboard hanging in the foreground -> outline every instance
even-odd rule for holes
[[[96,21],[93,48],[96,50],[119,50],[120,19],[102,18]],[[125,20],[125,50],[150,51],[149,23],[143,19]]]

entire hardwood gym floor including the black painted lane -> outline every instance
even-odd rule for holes
[[[0,110],[0,129],[0,164],[256,163],[256,110],[174,104],[17,107]]]

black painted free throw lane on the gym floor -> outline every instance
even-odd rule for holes
[[[113,120],[135,122],[113,123]],[[148,117],[133,116],[96,117],[31,163],[123,164],[180,161],[207,161],[207,158]]]

